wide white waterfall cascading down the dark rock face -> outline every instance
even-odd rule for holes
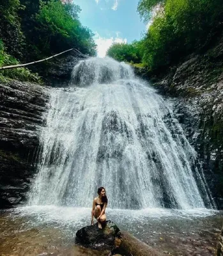
[[[171,107],[124,63],[75,66],[70,87],[52,91],[41,145],[31,205],[90,207],[104,186],[110,208],[211,208]]]

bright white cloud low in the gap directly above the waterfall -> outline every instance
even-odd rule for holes
[[[111,37],[111,38],[104,38],[101,37],[98,33],[95,33],[95,43],[98,45],[97,46],[97,51],[98,51],[98,57],[104,58],[107,52],[107,49],[114,44],[114,43],[124,43],[127,44],[127,39],[120,38],[118,36]]]

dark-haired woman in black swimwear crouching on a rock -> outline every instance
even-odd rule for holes
[[[98,197],[93,200],[91,211],[91,225],[94,225],[94,217],[98,221],[98,228],[102,228],[102,224],[106,221],[105,209],[107,207],[107,196],[105,188],[98,188]]]

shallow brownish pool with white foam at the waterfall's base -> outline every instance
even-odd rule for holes
[[[215,255],[222,211],[107,209],[107,219],[167,255]],[[0,255],[107,255],[75,246],[90,208],[30,206],[0,212]]]

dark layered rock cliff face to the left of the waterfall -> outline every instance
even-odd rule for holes
[[[48,99],[45,86],[0,83],[0,209],[25,200]]]

